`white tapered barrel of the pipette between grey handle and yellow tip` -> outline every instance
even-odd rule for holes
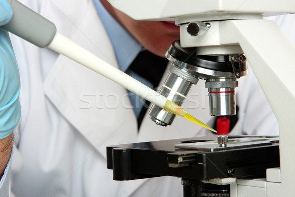
[[[111,79],[131,92],[147,99],[159,107],[164,107],[167,99],[143,83],[122,72],[118,68],[98,58],[71,39],[57,32],[48,46],[52,50],[88,67],[89,69]]]

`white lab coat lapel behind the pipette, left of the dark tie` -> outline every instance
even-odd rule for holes
[[[53,4],[47,1],[43,13],[58,31],[117,66],[110,40],[94,6],[90,6],[91,0],[51,1]],[[48,99],[103,156],[106,145],[136,140],[136,118],[126,90],[118,84],[59,55],[44,86]]]

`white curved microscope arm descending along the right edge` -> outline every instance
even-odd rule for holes
[[[280,183],[267,183],[267,197],[295,194],[295,45],[268,20],[231,20],[220,25],[220,44],[239,44],[278,119]],[[259,113],[259,112],[258,112]]]

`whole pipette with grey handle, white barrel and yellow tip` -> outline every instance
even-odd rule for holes
[[[30,10],[17,0],[8,0],[13,9],[13,16],[3,29],[18,35],[38,47],[49,47],[75,62],[111,79],[131,92],[147,99],[157,106],[168,110],[178,116],[182,116],[210,131],[212,128],[197,120],[180,106],[168,100],[143,83],[137,81],[118,68],[108,64],[96,55],[89,52],[71,39],[57,32],[56,26],[36,12]]]

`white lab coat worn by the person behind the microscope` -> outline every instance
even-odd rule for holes
[[[21,0],[54,22],[60,33],[117,66],[91,0]],[[137,131],[124,88],[50,49],[12,36],[21,74],[22,118],[16,133],[12,191],[16,197],[179,197],[179,178],[112,180],[106,146],[210,134],[177,117],[160,127],[148,115]],[[249,68],[236,88],[239,120],[231,134],[278,134],[274,115]],[[102,95],[102,96],[101,96]],[[205,82],[184,108],[212,124]]]

